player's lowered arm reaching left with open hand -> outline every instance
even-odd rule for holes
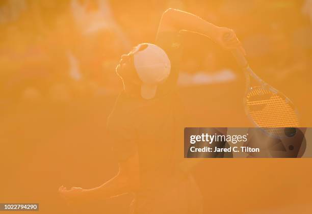
[[[111,198],[124,193],[134,192],[139,188],[139,158],[138,153],[133,154],[125,161],[119,163],[119,172],[112,179],[102,185],[84,190],[82,188],[71,188],[66,190],[63,186],[59,192],[67,199],[79,198],[83,200]]]

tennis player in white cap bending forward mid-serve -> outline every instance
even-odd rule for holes
[[[131,213],[202,213],[200,191],[190,173],[180,168],[184,114],[176,82],[181,30],[207,36],[226,49],[241,48],[232,30],[191,13],[166,10],[156,41],[134,47],[116,67],[124,90],[107,128],[119,173],[94,189],[61,186],[63,197],[96,199],[134,193]],[[230,39],[225,41],[225,35]]]

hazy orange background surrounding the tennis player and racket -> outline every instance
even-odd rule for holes
[[[170,7],[235,30],[257,75],[294,102],[302,127],[312,126],[312,20],[304,1],[1,1],[0,203],[39,203],[40,213],[126,213],[131,196],[73,208],[57,190],[94,188],[116,174],[106,135],[123,86],[115,67],[133,46],[154,41]],[[230,52],[200,35],[182,39],[186,126],[252,126],[244,74]],[[311,164],[210,158],[192,172],[204,213],[303,213],[312,211]]]

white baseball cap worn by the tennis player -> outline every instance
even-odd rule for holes
[[[134,66],[142,81],[141,96],[151,99],[157,86],[164,83],[170,74],[170,60],[167,53],[154,44],[139,44],[132,52]]]

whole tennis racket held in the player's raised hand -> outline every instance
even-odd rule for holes
[[[224,39],[229,36],[225,35]],[[241,50],[233,49],[231,52],[246,75],[244,108],[249,119],[256,126],[268,128],[268,132],[279,136],[284,134],[284,130],[275,127],[298,127],[298,112],[292,101],[259,78]]]

